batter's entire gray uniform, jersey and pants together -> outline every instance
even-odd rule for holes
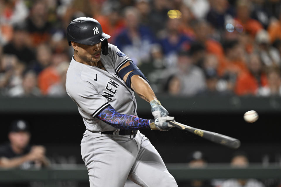
[[[144,187],[177,187],[157,150],[140,132],[135,136],[91,132],[116,129],[95,118],[108,105],[119,113],[137,116],[134,93],[117,76],[130,59],[116,46],[108,46],[108,55],[101,54],[107,71],[72,59],[66,77],[66,91],[77,104],[87,128],[81,155],[90,187],[124,187],[127,178]]]

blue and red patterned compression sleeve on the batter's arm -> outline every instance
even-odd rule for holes
[[[149,120],[133,115],[120,114],[109,105],[95,117],[118,129],[150,129]]]

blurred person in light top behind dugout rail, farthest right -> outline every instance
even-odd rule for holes
[[[231,159],[232,167],[247,167],[249,159],[244,152],[234,153]],[[263,183],[256,179],[229,179],[222,183],[220,187],[264,187]]]

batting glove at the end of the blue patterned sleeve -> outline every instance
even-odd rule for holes
[[[155,120],[150,120],[149,125],[152,130],[168,131],[173,125],[169,124],[169,121],[174,120],[171,116],[157,117]]]

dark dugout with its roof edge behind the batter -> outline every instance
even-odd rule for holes
[[[250,162],[280,162],[280,98],[193,97],[158,99],[178,122],[225,134],[241,141]],[[9,124],[23,119],[31,126],[31,145],[47,148],[52,163],[83,163],[80,141],[85,131],[77,106],[69,98],[1,98],[0,142],[8,141]],[[238,103],[238,104],[237,104]],[[257,122],[249,124],[244,112],[256,110]],[[138,116],[151,119],[150,105],[138,98]],[[165,163],[187,162],[195,150],[208,162],[229,162],[236,151],[173,128],[167,132],[143,129]]]

